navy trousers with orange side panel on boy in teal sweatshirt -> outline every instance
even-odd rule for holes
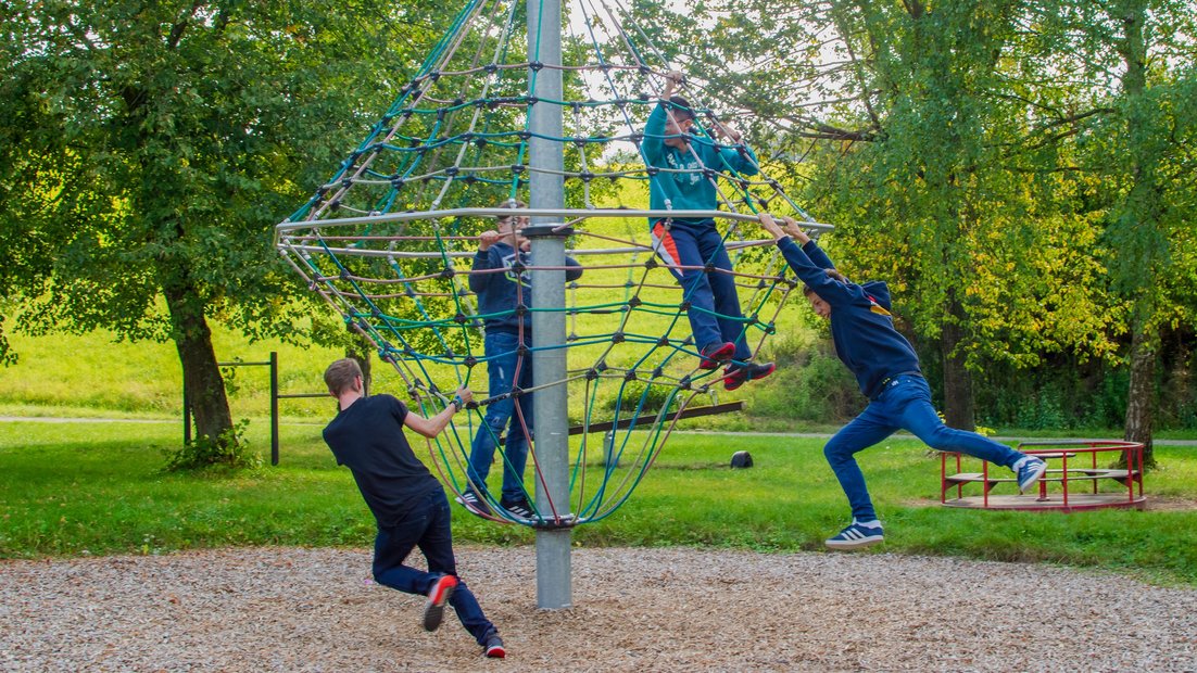
[[[703,350],[712,344],[731,342],[736,344],[736,360],[752,357],[745,339],[735,276],[703,270],[707,262],[716,269],[731,270],[728,249],[723,246],[723,237],[715,228],[715,222],[691,225],[675,221],[667,230],[657,221],[652,225],[652,239],[657,255],[669,264],[669,273],[681,285],[682,300],[689,302],[686,316],[694,345]],[[680,270],[675,265],[698,268]]]

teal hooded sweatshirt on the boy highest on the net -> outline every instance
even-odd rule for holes
[[[649,178],[649,207],[654,210],[664,210],[666,200],[674,210],[717,210],[718,194],[713,181],[703,175],[704,169],[719,172],[731,169],[743,176],[759,172],[757,155],[748,147],[745,147],[746,157],[733,147],[717,148],[707,137],[692,136],[688,140],[693,152],[666,145],[666,110],[657,104],[644,126],[644,141],[640,143],[649,167],[669,169]],[[678,221],[693,225],[707,220]]]

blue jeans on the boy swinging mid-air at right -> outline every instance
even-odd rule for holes
[[[959,451],[1005,467],[1011,467],[1023,455],[977,433],[944,426],[931,406],[931,388],[926,379],[918,375],[894,377],[881,394],[824,447],[824,455],[847,495],[855,519],[873,521],[877,513],[873,509],[864,475],[853,455],[899,429],[909,430],[936,451]]]

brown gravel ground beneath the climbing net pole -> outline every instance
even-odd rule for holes
[[[1197,591],[891,555],[458,550],[506,660],[369,580],[365,550],[0,562],[4,671],[1197,671]]]

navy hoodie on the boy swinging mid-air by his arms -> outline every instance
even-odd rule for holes
[[[856,375],[865,397],[881,394],[888,378],[920,373],[915,348],[894,329],[886,283],[856,285],[827,276],[825,269],[836,267],[813,240],[798,247],[785,237],[777,247],[794,273],[831,306],[836,355]]]

